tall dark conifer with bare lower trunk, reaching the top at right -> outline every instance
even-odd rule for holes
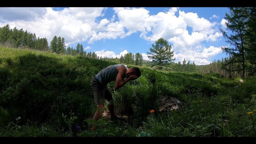
[[[226,38],[226,42],[230,44],[230,47],[222,47],[222,51],[229,54],[230,59],[227,59],[225,67],[229,67],[227,70],[231,71],[243,71],[242,77],[245,73],[245,34],[247,30],[246,22],[248,17],[244,16],[244,8],[242,7],[230,7],[230,14],[226,13],[225,20],[226,27],[232,31],[233,34],[228,36],[225,30],[221,30],[223,36]],[[234,46],[234,47],[231,47]]]

